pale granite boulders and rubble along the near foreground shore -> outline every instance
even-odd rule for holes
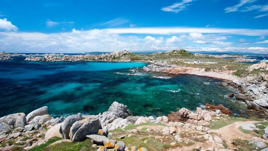
[[[58,140],[51,145],[90,139],[93,143],[92,147],[98,151],[147,151],[144,147],[137,148],[135,145],[129,146],[122,141],[111,139],[113,138],[113,130],[122,129],[123,132],[129,132],[127,136],[123,135],[118,138],[123,139],[141,133],[139,127],[124,130],[128,125],[139,126],[145,123],[159,123],[167,126],[151,126],[151,128],[146,129],[146,132],[174,138],[173,142],[170,143],[171,146],[178,143],[190,143],[191,140],[180,137],[182,131],[187,130],[200,133],[201,135],[198,135],[197,138],[207,140],[211,145],[208,149],[224,151],[220,149],[226,148],[223,138],[210,133],[210,128],[207,127],[209,122],[228,117],[222,112],[231,113],[224,106],[210,104],[204,110],[197,107],[194,113],[186,108],[181,108],[177,112],[171,112],[168,116],[154,118],[153,116],[133,116],[127,106],[113,102],[106,112],[98,115],[81,115],[78,113],[65,118],[53,118],[48,114],[48,107],[44,106],[27,115],[15,113],[1,117],[0,150],[12,150],[14,148],[29,150],[41,144],[46,144],[51,138],[58,137],[62,140]],[[267,133],[265,131],[263,134],[264,139],[267,139],[267,134],[268,130]],[[257,140],[259,142],[261,139]],[[8,143],[11,141],[13,144]],[[2,144],[5,144],[5,146],[3,147]],[[266,147],[265,145],[263,148]],[[204,150],[201,146],[200,149]]]

